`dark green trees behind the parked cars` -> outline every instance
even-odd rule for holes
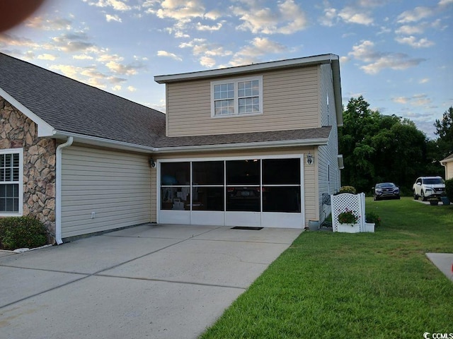
[[[437,138],[430,139],[410,119],[381,114],[362,95],[352,97],[338,131],[342,185],[370,192],[378,182],[394,182],[411,195],[417,177],[445,177],[439,161],[453,153],[453,107],[434,126]]]

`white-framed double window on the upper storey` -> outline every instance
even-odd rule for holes
[[[263,114],[263,77],[229,79],[211,83],[211,116]]]

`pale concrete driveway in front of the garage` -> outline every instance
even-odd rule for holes
[[[0,251],[1,338],[197,338],[300,232],[149,224]]]

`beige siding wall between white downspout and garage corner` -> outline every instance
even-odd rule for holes
[[[147,155],[64,148],[62,238],[150,222],[150,189]]]

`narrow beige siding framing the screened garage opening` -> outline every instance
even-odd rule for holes
[[[210,152],[210,153],[172,153],[171,155],[155,155],[156,160],[168,160],[168,159],[184,159],[187,161],[191,161],[193,159],[202,159],[202,158],[212,158],[212,157],[220,157],[220,158],[231,158],[231,157],[262,157],[266,155],[294,155],[294,154],[304,154],[311,153],[314,154],[316,148],[313,147],[296,147],[296,148],[285,148],[285,149],[267,149],[267,150],[234,150],[234,151],[227,151],[227,152]],[[319,208],[317,205],[318,198],[317,198],[317,189],[316,186],[317,182],[317,174],[316,174],[316,166],[306,165],[304,160],[304,214],[305,214],[305,225],[308,225],[308,220],[314,219],[316,215],[319,214]],[[152,173],[152,172],[151,172]],[[153,196],[157,194],[157,186],[156,181],[152,182],[152,193]],[[159,208],[159,203],[154,204],[155,208],[153,210],[154,213],[157,213],[157,209]]]

